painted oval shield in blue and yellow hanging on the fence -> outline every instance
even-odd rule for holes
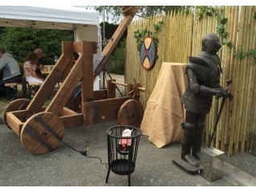
[[[150,70],[152,67],[154,67],[155,56],[155,40],[151,37],[144,38],[142,47],[140,49],[140,61],[146,70]]]

